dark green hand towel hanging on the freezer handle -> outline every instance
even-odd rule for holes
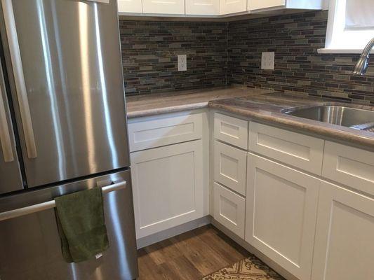
[[[83,262],[109,248],[101,188],[55,197],[55,203],[62,255],[67,262]]]

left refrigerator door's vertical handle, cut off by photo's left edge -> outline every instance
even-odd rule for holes
[[[1,71],[0,71],[1,73]],[[13,162],[13,146],[11,141],[11,133],[9,131],[8,122],[5,113],[5,104],[3,92],[0,87],[0,143],[3,150],[4,162]]]

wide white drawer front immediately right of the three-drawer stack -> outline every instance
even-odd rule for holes
[[[322,139],[253,122],[249,124],[249,131],[251,151],[321,175]]]

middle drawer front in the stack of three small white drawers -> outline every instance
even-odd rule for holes
[[[247,153],[214,141],[214,180],[246,195]]]

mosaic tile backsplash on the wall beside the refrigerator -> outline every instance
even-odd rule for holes
[[[120,18],[126,95],[227,84],[226,22],[152,22]],[[178,71],[187,55],[187,71]]]

